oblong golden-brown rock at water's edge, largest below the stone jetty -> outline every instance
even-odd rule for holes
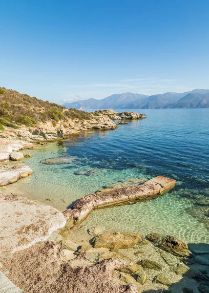
[[[132,232],[103,233],[94,240],[94,248],[126,249],[134,246],[142,236]]]

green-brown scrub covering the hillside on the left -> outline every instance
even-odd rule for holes
[[[90,120],[92,114],[77,109],[67,109],[55,103],[44,102],[27,94],[0,87],[0,130],[4,126],[19,128],[18,125],[35,126],[40,122],[60,120]]]

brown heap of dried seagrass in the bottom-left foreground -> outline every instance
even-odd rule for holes
[[[52,241],[36,244],[2,259],[3,269],[24,292],[137,293],[133,285],[114,281],[114,271],[120,269],[117,260],[90,261],[83,252],[66,261],[62,255],[62,247]]]

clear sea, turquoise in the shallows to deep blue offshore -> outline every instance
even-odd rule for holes
[[[34,170],[12,187],[29,198],[45,201],[61,210],[85,194],[131,177],[164,175],[177,180],[176,188],[160,198],[135,205],[100,209],[79,228],[150,231],[176,235],[188,243],[209,243],[209,230],[192,217],[198,199],[209,199],[209,109],[137,109],[147,119],[129,122],[116,130],[92,131],[64,142],[48,143],[32,150],[24,162]],[[62,165],[44,165],[52,157],[72,158]],[[77,171],[96,171],[90,176]],[[195,199],[193,198],[193,195]],[[202,207],[202,205],[201,205]],[[206,209],[208,205],[204,205]],[[188,209],[190,212],[188,212]],[[208,219],[204,215],[204,219]]]

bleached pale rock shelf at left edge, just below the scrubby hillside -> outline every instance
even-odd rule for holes
[[[1,132],[4,133],[4,132]],[[26,141],[16,139],[15,141],[11,137],[9,139],[3,139],[0,135],[0,161],[8,160],[13,151],[18,151],[24,147],[31,147],[32,144]]]

